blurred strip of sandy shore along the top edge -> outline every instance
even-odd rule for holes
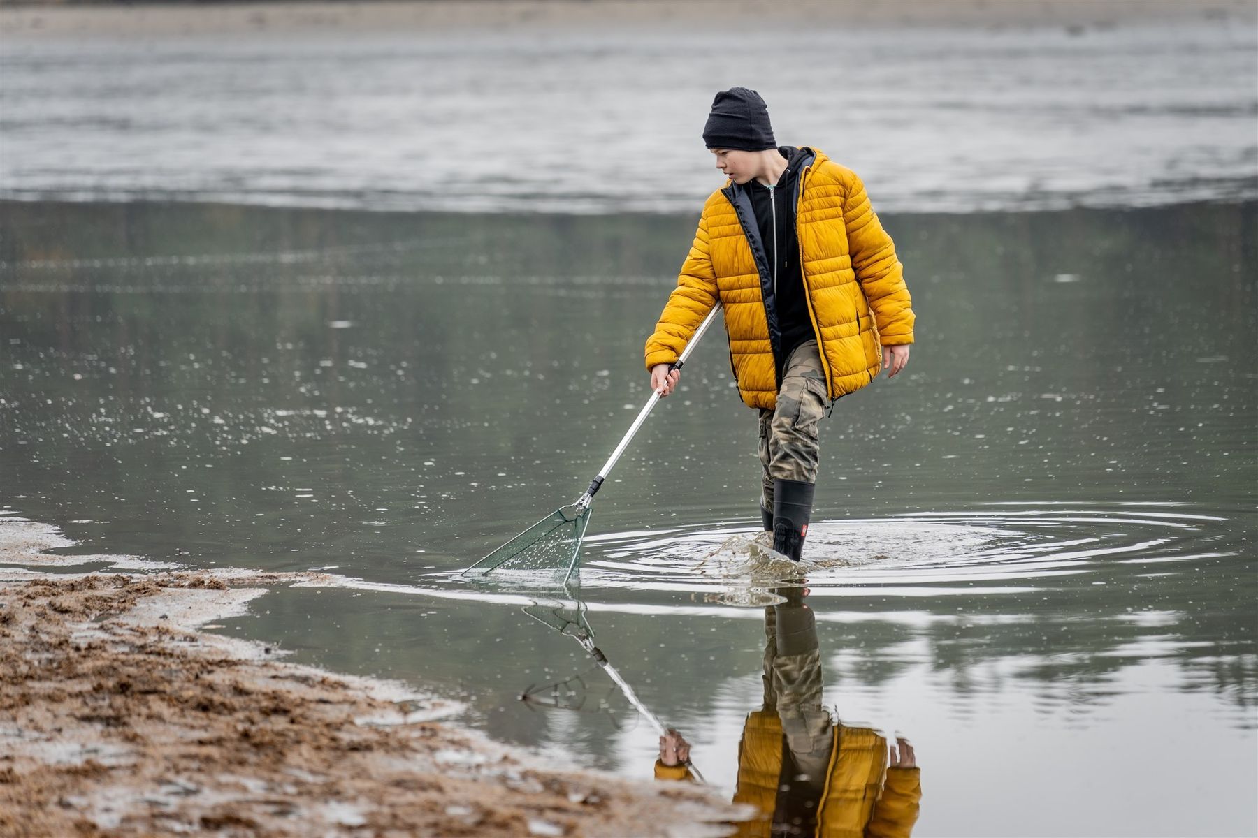
[[[1232,18],[1253,21],[1253,0],[420,0],[410,3],[249,3],[30,5],[0,3],[0,33],[15,35],[206,35],[248,31],[424,33],[648,25],[1089,26]]]

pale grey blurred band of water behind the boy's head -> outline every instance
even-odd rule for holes
[[[10,35],[0,197],[693,212],[717,181],[703,119],[733,83],[881,211],[1258,197],[1248,20],[728,24]]]

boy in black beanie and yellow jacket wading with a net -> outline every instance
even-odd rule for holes
[[[716,94],[703,129],[728,180],[703,205],[694,242],[655,332],[647,369],[669,372],[716,302],[743,403],[760,411],[760,513],[774,549],[796,562],[813,510],[816,423],[879,367],[908,363],[913,312],[891,236],[860,178],[815,148],[777,147],[760,94]]]

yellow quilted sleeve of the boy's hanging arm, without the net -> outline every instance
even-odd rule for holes
[[[849,183],[843,224],[848,229],[852,268],[878,324],[882,346],[912,343],[915,315],[905,268],[896,256],[896,242],[882,229],[864,183],[855,175]]]

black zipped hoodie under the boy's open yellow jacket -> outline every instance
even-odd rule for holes
[[[769,259],[769,273],[776,270],[775,313],[777,328],[781,332],[777,358],[779,372],[785,367],[790,353],[805,340],[816,339],[813,320],[808,315],[808,302],[804,299],[804,274],[799,264],[799,237],[795,227],[795,205],[799,195],[800,163],[813,156],[809,148],[782,146],[777,150],[786,158],[786,171],[772,187],[759,181],[749,181],[745,186],[756,212],[756,226]],[[770,204],[772,201],[772,204]],[[777,227],[774,229],[776,216]],[[775,264],[776,259],[776,264]]]

